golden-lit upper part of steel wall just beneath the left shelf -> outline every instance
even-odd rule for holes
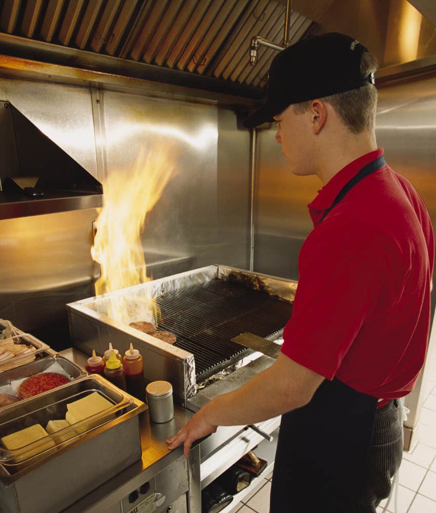
[[[2,269],[9,271],[2,272],[0,295],[71,287],[96,278],[98,266],[90,258],[96,216],[90,209],[0,220]]]

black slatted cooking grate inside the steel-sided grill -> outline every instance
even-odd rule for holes
[[[217,279],[167,292],[157,304],[159,329],[174,333],[174,345],[194,355],[197,383],[250,352],[232,338],[245,331],[270,337],[292,314],[292,303]]]

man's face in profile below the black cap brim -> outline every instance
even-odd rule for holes
[[[295,114],[293,105],[289,105],[274,116],[278,123],[275,140],[282,145],[282,153],[291,172],[301,176],[313,173],[310,169],[310,117],[306,114]]]

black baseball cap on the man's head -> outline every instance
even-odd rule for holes
[[[368,51],[339,32],[310,36],[278,53],[269,68],[264,104],[244,121],[247,128],[273,121],[291,104],[323,98],[374,83],[362,76],[361,57]]]

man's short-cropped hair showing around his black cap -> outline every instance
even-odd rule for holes
[[[377,68],[378,62],[374,55],[363,52],[361,60],[362,76],[374,73]],[[333,107],[351,132],[358,134],[364,130],[374,129],[378,93],[373,84],[325,96],[323,100]],[[297,103],[294,105],[294,112],[303,114],[307,112],[310,105],[310,101]]]

